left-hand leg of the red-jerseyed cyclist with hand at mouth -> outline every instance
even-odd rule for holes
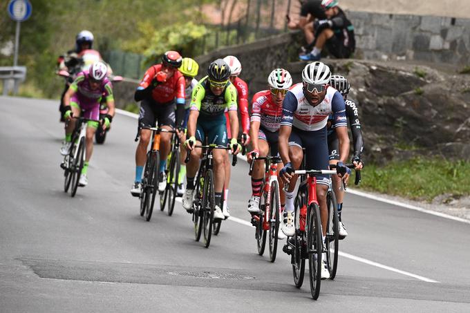
[[[140,102],[139,126],[154,127],[156,116],[149,100]],[[135,182],[142,181],[145,162],[147,162],[147,146],[149,146],[151,131],[149,129],[140,130],[140,140],[135,149]]]

